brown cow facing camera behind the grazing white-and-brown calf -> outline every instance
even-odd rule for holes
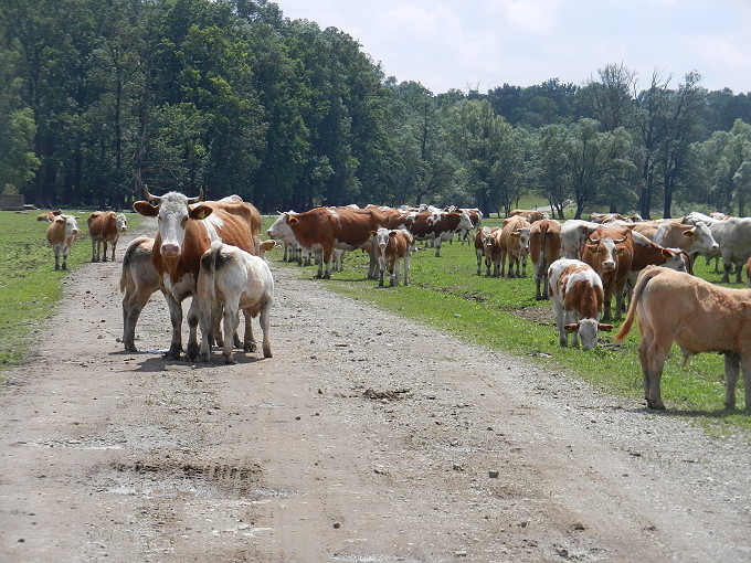
[[[631,230],[625,226],[597,227],[588,236],[581,259],[592,266],[602,279],[605,289],[604,320],[610,321],[613,318],[611,308],[613,294],[615,294],[615,320],[620,320],[624,311],[628,272],[634,259]]]

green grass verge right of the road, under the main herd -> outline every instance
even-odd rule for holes
[[[484,223],[493,225],[495,221]],[[275,248],[269,259],[282,264],[282,255],[283,251]],[[313,278],[316,268],[299,268],[300,276]],[[696,269],[699,276],[719,283],[720,274],[711,273],[704,259],[698,261]],[[345,257],[343,272],[332,273],[330,280],[311,279],[310,283],[324,284],[335,291],[433,326],[466,342],[528,358],[551,373],[573,374],[606,393],[643,400],[642,370],[636,352],[638,328],[634,326],[621,346],[613,343],[621,325],[617,322],[613,332],[601,332],[601,346],[591,351],[561,348],[550,302],[535,300],[531,264],[527,265],[526,278],[487,278],[484,266],[483,276],[477,276],[474,245],[459,245],[455,241],[443,244],[441,257],[435,257],[434,248],[413,253],[408,287],[380,288],[377,280],[366,279],[367,272],[368,256],[359,251],[351,252]],[[663,400],[668,407],[665,414],[688,416],[717,435],[741,429],[751,432],[751,415],[724,408],[723,357],[696,355],[686,370],[679,367],[681,358],[674,347],[666,362],[662,381]],[[738,406],[742,408],[742,381],[737,396]]]

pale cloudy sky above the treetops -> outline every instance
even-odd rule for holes
[[[385,76],[433,94],[558,78],[583,85],[623,65],[645,89],[751,92],[751,0],[273,0],[285,17],[357,40]]]

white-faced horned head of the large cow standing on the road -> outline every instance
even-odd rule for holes
[[[144,216],[158,217],[159,237],[161,238],[159,252],[162,257],[180,257],[188,221],[203,220],[211,215],[212,209],[210,206],[193,205],[203,201],[203,190],[195,198],[188,198],[179,192],[169,192],[158,196],[151,195],[145,185],[144,193],[146,199],[152,203],[137,201],[133,204],[133,208]]]

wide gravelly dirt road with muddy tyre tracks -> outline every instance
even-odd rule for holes
[[[0,397],[2,561],[751,561],[748,436],[272,267],[230,367],[161,359],[159,295],[125,352],[119,262],[67,277]]]

